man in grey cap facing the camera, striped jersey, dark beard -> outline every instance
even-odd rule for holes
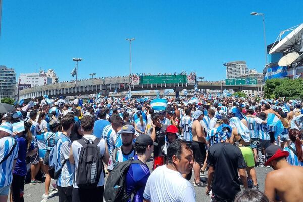
[[[131,160],[136,155],[136,151],[132,144],[134,134],[135,128],[132,125],[122,126],[120,131],[122,146],[113,150],[108,164],[109,172],[111,172],[119,162]]]

